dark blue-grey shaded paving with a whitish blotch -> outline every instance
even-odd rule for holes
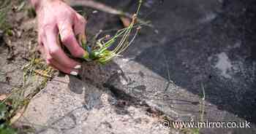
[[[141,35],[146,41],[136,42],[127,56],[142,50],[135,61],[165,79],[167,62],[170,79],[179,87],[200,95],[203,83],[206,101],[256,123],[256,2],[226,0],[206,12],[200,9],[204,1],[186,2],[165,1],[157,7],[150,19],[159,33]],[[204,13],[205,20],[195,22]],[[141,49],[143,42],[151,47]]]

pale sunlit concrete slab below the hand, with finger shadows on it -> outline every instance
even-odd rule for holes
[[[29,103],[18,125],[35,133],[169,133],[157,117],[120,103],[108,90],[99,90],[74,76],[56,77]]]

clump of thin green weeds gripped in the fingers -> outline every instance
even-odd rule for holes
[[[86,41],[86,37],[80,35],[79,42],[84,50],[86,50],[86,54],[83,55],[83,59],[87,61],[97,61],[97,63],[106,64],[113,58],[121,56],[121,52],[127,50],[127,48],[132,44],[135,40],[135,37],[138,35],[138,31],[140,30],[142,24],[137,23],[138,13],[140,11],[142,0],[139,1],[139,6],[135,15],[132,16],[131,23],[127,26],[127,28],[123,28],[116,32],[116,34],[112,37],[105,36],[99,40],[97,40],[96,44],[93,44],[92,47],[89,47]],[[132,38],[130,38],[130,34],[132,31],[136,29],[135,34]],[[107,40],[107,42],[103,42]],[[110,47],[113,47],[113,44],[117,46],[110,50]]]

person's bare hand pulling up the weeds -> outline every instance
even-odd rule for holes
[[[75,36],[86,35],[86,20],[61,0],[31,0],[31,4],[37,12],[39,50],[46,63],[64,73],[78,75],[80,63],[61,50],[58,35],[72,56],[82,58],[85,51]]]

